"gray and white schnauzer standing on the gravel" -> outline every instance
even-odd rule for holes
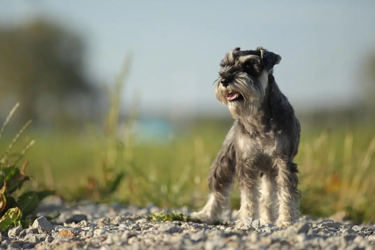
[[[211,165],[207,203],[192,213],[193,218],[214,222],[229,208],[236,174],[241,194],[238,224],[243,217],[260,217],[263,224],[276,220],[277,226],[287,227],[300,216],[301,193],[293,159],[301,127],[273,76],[273,67],[280,61],[280,55],[262,47],[235,48],[221,61],[215,95],[235,121]],[[273,209],[275,204],[278,211]]]

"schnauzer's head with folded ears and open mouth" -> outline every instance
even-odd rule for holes
[[[241,51],[235,48],[226,53],[220,63],[215,95],[228,105],[234,118],[256,111],[266,95],[268,75],[281,56],[262,47]]]

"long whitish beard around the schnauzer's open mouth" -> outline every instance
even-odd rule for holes
[[[233,118],[244,118],[258,111],[265,96],[266,84],[261,81],[255,82],[248,74],[241,73],[227,87],[224,87],[219,79],[215,95],[221,104],[228,106]],[[239,93],[239,97],[228,100],[228,93]]]

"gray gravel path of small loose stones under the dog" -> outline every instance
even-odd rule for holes
[[[150,222],[147,215],[161,211],[148,206],[121,207],[89,202],[67,207],[59,199],[49,199],[38,216],[61,211],[51,223],[41,216],[32,228],[2,232],[0,249],[375,249],[375,226],[353,225],[333,220],[303,217],[284,229],[260,225],[248,218],[236,228],[189,222]],[[166,212],[171,212],[164,210]],[[190,214],[187,208],[176,210]]]

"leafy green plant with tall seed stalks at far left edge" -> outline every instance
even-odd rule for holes
[[[19,103],[13,107],[7,116],[0,130],[0,140],[18,106]],[[23,184],[30,180],[30,177],[25,173],[27,162],[23,163],[21,169],[17,167],[17,163],[20,162],[30,147],[33,146],[34,140],[30,141],[20,154],[10,154],[10,150],[30,123],[31,120],[17,133],[5,153],[0,155],[0,183],[3,184],[0,189],[0,216],[2,216],[0,219],[0,230],[7,229],[12,224],[14,226],[23,224],[24,227],[27,227],[28,220],[26,220],[26,217],[36,210],[39,201],[54,193],[53,191],[20,192]],[[15,159],[12,159],[11,156],[15,156]]]

